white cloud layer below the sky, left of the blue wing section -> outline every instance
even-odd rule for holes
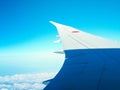
[[[0,76],[0,90],[42,90],[42,82],[55,75],[56,72]]]

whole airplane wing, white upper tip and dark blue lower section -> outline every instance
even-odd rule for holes
[[[55,23],[65,62],[44,90],[120,90],[120,42]]]

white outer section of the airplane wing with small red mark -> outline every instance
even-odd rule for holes
[[[95,36],[70,26],[50,21],[56,26],[64,50],[94,49],[94,48],[120,48],[120,42]]]

